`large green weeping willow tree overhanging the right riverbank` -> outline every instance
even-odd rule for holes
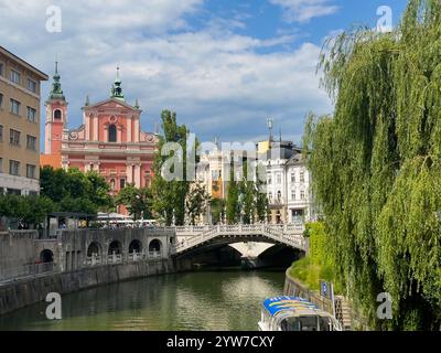
[[[441,1],[391,33],[347,31],[319,69],[333,117],[306,122],[313,188],[349,296],[376,329],[441,323]],[[377,318],[390,293],[392,320]]]

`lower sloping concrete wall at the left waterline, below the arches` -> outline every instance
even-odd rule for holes
[[[90,287],[164,275],[175,270],[173,263],[165,259],[99,266],[20,280],[0,287],[0,314],[44,301],[50,292],[66,295]]]

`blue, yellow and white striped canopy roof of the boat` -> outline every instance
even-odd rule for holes
[[[263,301],[263,307],[271,317],[281,312],[291,312],[299,315],[313,315],[320,311],[319,307],[299,297],[275,297]]]

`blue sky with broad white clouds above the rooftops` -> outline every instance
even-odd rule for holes
[[[324,38],[353,24],[374,28],[380,6],[391,8],[396,25],[406,4],[0,0],[0,45],[51,76],[58,58],[69,128],[82,124],[87,94],[93,103],[108,97],[119,65],[127,100],[139,98],[144,110],[143,130],[153,131],[170,108],[202,141],[256,141],[270,116],[284,138],[300,142],[306,113],[333,109],[315,75]],[[61,33],[45,30],[50,6],[62,10]],[[49,90],[44,83],[43,98]]]

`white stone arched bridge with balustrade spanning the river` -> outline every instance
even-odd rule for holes
[[[309,242],[303,237],[303,224],[289,225],[217,225],[175,227],[178,244],[174,256],[203,247],[235,243],[270,243],[308,252]]]

